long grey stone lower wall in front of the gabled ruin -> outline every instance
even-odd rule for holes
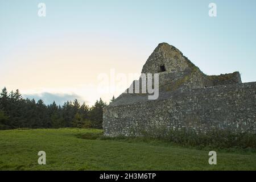
[[[133,95],[126,101],[104,109],[105,135],[181,128],[256,133],[256,82],[161,92],[158,100]]]

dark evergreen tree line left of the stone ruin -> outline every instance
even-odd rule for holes
[[[106,105],[101,98],[91,107],[77,100],[67,101],[62,106],[54,101],[46,105],[43,100],[24,99],[19,90],[8,93],[3,88],[0,94],[0,130],[60,127],[101,129],[103,107]]]

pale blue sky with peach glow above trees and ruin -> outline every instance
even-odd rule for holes
[[[0,0],[0,88],[46,104],[109,102],[162,42],[207,75],[239,71],[242,82],[256,81],[255,9],[254,0]]]

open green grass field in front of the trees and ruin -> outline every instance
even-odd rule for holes
[[[95,129],[0,131],[1,170],[256,170],[254,152],[217,152],[138,140],[98,139]],[[46,151],[46,165],[38,152]]]

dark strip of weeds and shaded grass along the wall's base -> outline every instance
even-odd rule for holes
[[[218,133],[220,134],[220,133]],[[229,135],[228,135],[229,136]],[[241,143],[245,142],[245,140],[250,140],[250,143],[255,143],[254,139],[255,134],[253,135],[241,135],[240,143],[228,145],[222,141],[222,137],[216,137],[216,135],[213,136],[205,136],[205,135],[194,135],[192,136],[188,135],[181,135],[179,138],[182,138],[182,140],[175,140],[175,138],[154,138],[154,137],[125,137],[125,136],[118,136],[118,137],[106,137],[104,136],[103,131],[102,132],[88,132],[88,133],[80,133],[76,134],[77,138],[80,139],[88,139],[88,140],[114,140],[117,142],[126,142],[126,143],[146,143],[150,144],[152,146],[162,146],[162,147],[179,147],[179,148],[190,148],[195,150],[218,150],[223,152],[234,152],[234,153],[240,153],[240,154],[256,154],[256,148],[254,148],[254,144],[252,146],[243,146]],[[237,136],[236,136],[237,137]],[[246,138],[245,138],[246,137]],[[229,136],[230,138],[235,138],[234,136]],[[194,140],[197,140],[197,142],[191,142]],[[207,140],[207,141],[206,141]],[[217,140],[217,143],[216,143]],[[252,142],[253,141],[253,142]]]

